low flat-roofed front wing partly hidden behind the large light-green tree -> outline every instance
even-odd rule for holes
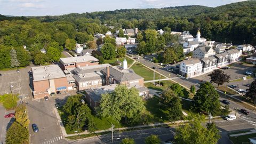
[[[84,95],[89,106],[95,110],[95,108],[97,108],[100,105],[101,95],[113,92],[117,85],[118,84],[112,84],[97,88],[86,89],[84,91]],[[140,85],[128,86],[129,89],[131,89],[132,87],[139,91],[140,97],[142,97],[143,99],[148,99],[149,90],[147,89],[147,87]]]

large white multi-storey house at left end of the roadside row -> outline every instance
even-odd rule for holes
[[[180,75],[195,77],[202,74],[203,63],[199,59],[191,58],[183,60],[180,64]]]

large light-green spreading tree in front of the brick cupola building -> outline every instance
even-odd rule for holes
[[[136,114],[141,114],[144,109],[137,89],[118,85],[113,92],[101,94],[98,114],[120,122],[122,118],[133,118]]]

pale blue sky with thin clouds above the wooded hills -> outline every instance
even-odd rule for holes
[[[34,16],[182,5],[215,7],[241,1],[245,0],[0,0],[0,14]]]

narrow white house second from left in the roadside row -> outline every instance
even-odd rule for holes
[[[213,56],[209,58],[203,58],[201,61],[203,63],[203,73],[209,73],[210,71],[216,69],[217,59]]]

